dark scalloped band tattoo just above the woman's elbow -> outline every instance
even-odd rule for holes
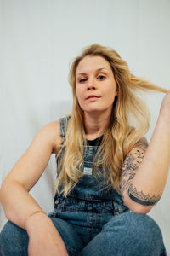
[[[161,198],[161,195],[144,195],[143,191],[138,192],[136,188],[133,188],[132,184],[129,186],[128,195],[130,199],[143,206],[153,206]]]

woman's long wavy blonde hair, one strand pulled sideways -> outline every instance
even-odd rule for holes
[[[111,186],[120,193],[122,165],[126,155],[134,147],[150,127],[150,113],[142,99],[143,91],[167,90],[149,81],[141,79],[130,73],[127,62],[114,49],[99,44],[92,44],[82,49],[71,64],[69,83],[73,94],[73,107],[65,134],[65,154],[58,166],[56,183],[57,192],[66,197],[73,189],[80,177],[83,176],[81,166],[83,163],[83,144],[86,144],[83,111],[77,101],[77,66],[87,56],[101,56],[109,62],[116,80],[118,96],[113,103],[110,123],[105,130],[99,152],[95,157],[94,176],[101,176],[98,166],[102,165],[105,187]],[[59,154],[60,154],[59,152]],[[58,156],[59,156],[58,154]],[[62,189],[59,191],[59,187]]]

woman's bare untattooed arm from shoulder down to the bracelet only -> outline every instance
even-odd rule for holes
[[[58,126],[57,122],[53,122],[42,127],[26,153],[21,156],[3,181],[0,201],[6,217],[21,228],[25,228],[26,218],[31,212],[41,210],[28,192],[42,176],[56,148]]]

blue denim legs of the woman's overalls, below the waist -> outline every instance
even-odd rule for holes
[[[69,214],[71,212],[68,212],[68,216]],[[70,256],[167,255],[161,230],[148,215],[134,212],[124,212],[118,216],[111,216],[108,213],[91,213],[91,215],[88,213],[87,219],[88,224],[91,223],[90,226],[83,223],[81,225],[80,214],[78,216],[79,224],[77,224],[77,218],[74,224],[71,224],[66,215],[65,219],[62,219],[53,218],[53,214],[49,214]],[[106,223],[102,226],[102,222]],[[8,221],[0,235],[2,255],[28,255],[28,241],[26,230]]]

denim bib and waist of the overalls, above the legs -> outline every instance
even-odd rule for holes
[[[59,119],[60,136],[64,139],[65,127],[68,120],[69,117]],[[96,177],[94,177],[94,156],[98,149],[99,146],[83,146],[84,161],[81,166],[81,171],[84,172],[84,175],[79,179],[75,188],[71,189],[71,192],[66,198],[62,194],[55,194],[54,207],[57,207],[59,211],[112,212],[114,215],[128,211],[128,208],[123,205],[122,196],[113,188],[104,189],[105,187],[102,178],[96,179]],[[56,156],[57,166],[59,166],[59,162],[64,153],[65,147],[61,149],[59,156]],[[105,171],[102,169],[102,166],[99,166],[99,168],[100,171]],[[89,204],[91,204],[91,207],[89,207]]]

